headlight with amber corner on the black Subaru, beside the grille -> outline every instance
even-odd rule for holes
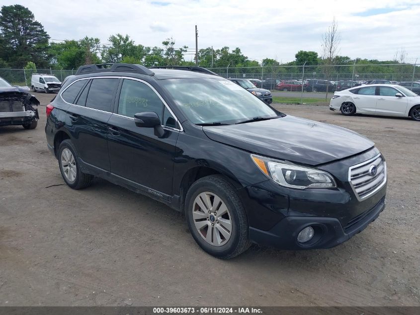
[[[251,158],[265,175],[281,186],[296,189],[337,187],[333,176],[327,172],[254,154]]]

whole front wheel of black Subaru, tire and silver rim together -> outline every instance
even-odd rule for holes
[[[212,256],[233,258],[250,246],[244,206],[222,176],[206,176],[192,184],[185,217],[194,240]]]

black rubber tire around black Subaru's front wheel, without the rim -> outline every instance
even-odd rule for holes
[[[226,244],[221,246],[214,246],[208,243],[194,225],[192,214],[194,200],[199,194],[204,192],[217,195],[225,203],[230,213],[232,222],[231,236]],[[248,218],[242,201],[235,188],[220,175],[206,176],[192,184],[185,198],[185,217],[192,237],[204,251],[214,257],[222,259],[233,258],[250,247]]]

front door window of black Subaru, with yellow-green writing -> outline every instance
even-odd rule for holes
[[[91,89],[91,88],[90,88]],[[145,111],[154,111],[162,120],[164,104],[148,85],[125,79],[118,102],[118,113],[127,117]]]

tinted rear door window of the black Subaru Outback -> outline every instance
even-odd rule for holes
[[[86,98],[86,107],[111,110],[112,96],[119,79],[93,79]]]

